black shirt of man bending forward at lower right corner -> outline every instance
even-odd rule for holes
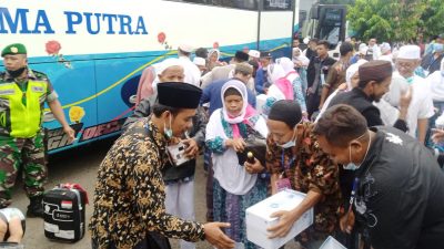
[[[372,247],[444,248],[444,173],[436,159],[398,129],[372,131],[376,138],[356,170],[360,187],[353,205]]]

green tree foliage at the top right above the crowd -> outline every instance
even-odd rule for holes
[[[412,41],[444,32],[442,0],[356,0],[350,28],[363,40]]]

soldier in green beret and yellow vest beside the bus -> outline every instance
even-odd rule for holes
[[[11,189],[20,166],[30,199],[28,217],[42,217],[43,184],[47,179],[42,114],[44,102],[69,136],[74,131],[64,118],[58,95],[46,74],[28,68],[27,49],[16,43],[1,56],[6,72],[0,73],[0,208],[11,204]]]

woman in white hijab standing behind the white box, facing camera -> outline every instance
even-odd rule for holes
[[[214,221],[231,222],[226,235],[239,248],[255,248],[246,239],[245,209],[266,198],[266,181],[258,174],[264,168],[239,164],[236,152],[253,131],[266,137],[265,120],[248,104],[246,86],[230,80],[222,87],[223,107],[213,112],[206,125],[206,146],[212,152]]]

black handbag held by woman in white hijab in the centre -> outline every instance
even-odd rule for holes
[[[245,149],[236,153],[239,165],[243,166],[246,162],[246,154],[251,152],[253,156],[261,162],[262,166],[265,167],[266,138],[250,126],[248,126],[248,131],[251,135],[244,139],[246,143]]]

